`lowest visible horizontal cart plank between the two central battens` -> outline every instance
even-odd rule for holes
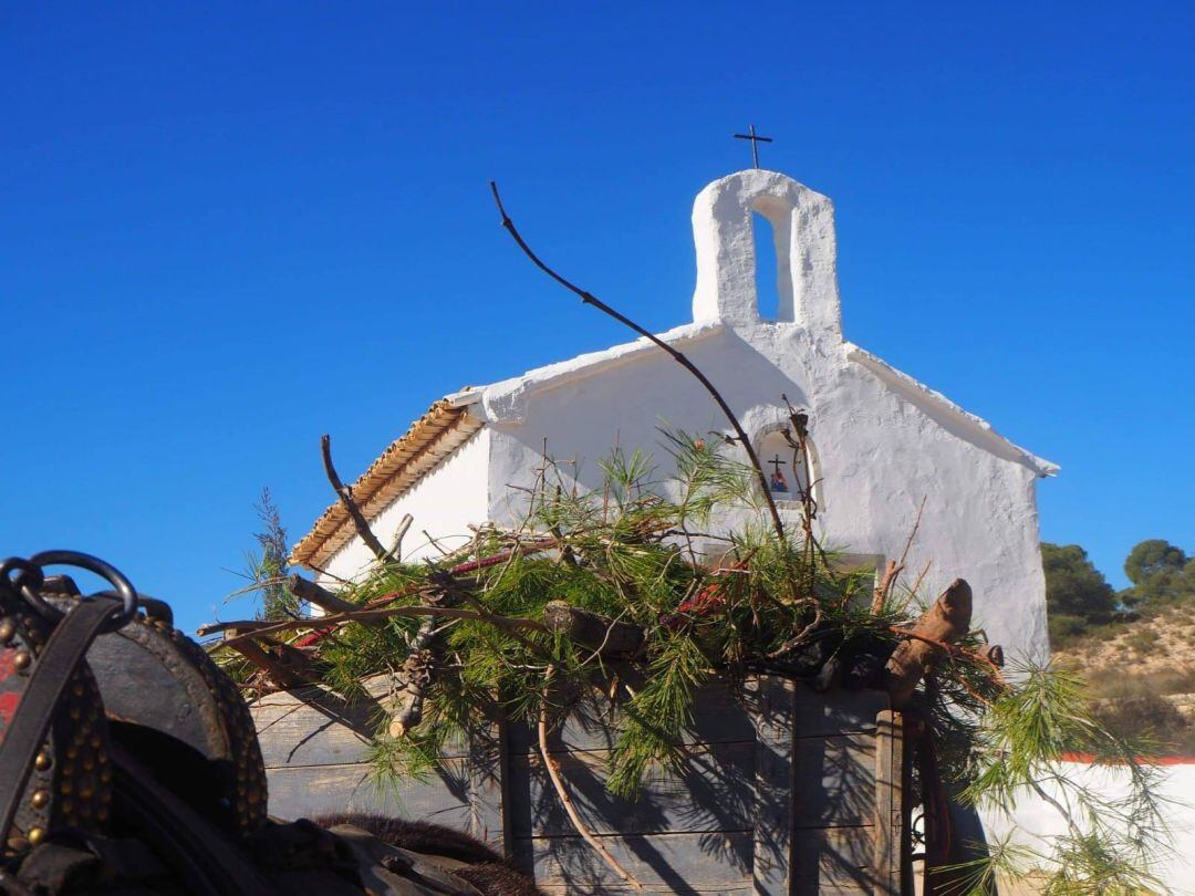
[[[644,885],[636,892],[735,892],[750,886],[752,834],[603,836],[602,845]],[[630,888],[578,836],[516,840],[515,857],[534,867],[540,885],[570,894],[627,892]]]

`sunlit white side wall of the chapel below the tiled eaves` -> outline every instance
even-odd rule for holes
[[[404,514],[415,517],[403,540],[403,558],[417,560],[439,553],[423,534],[441,540],[446,550],[459,547],[468,527],[486,521],[489,510],[490,432],[480,429],[448,455],[411,489],[387,507],[372,523],[384,545],[390,547]],[[355,536],[327,563],[327,571],[341,578],[356,578],[374,557]],[[335,583],[331,576],[327,577]]]

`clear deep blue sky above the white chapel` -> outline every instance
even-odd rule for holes
[[[839,8],[832,8],[839,7]],[[6,4],[0,553],[238,612],[430,401],[690,315],[688,214],[762,164],[835,202],[847,337],[1062,465],[1044,538],[1195,551],[1187,4]],[[966,571],[961,571],[966,572]]]

